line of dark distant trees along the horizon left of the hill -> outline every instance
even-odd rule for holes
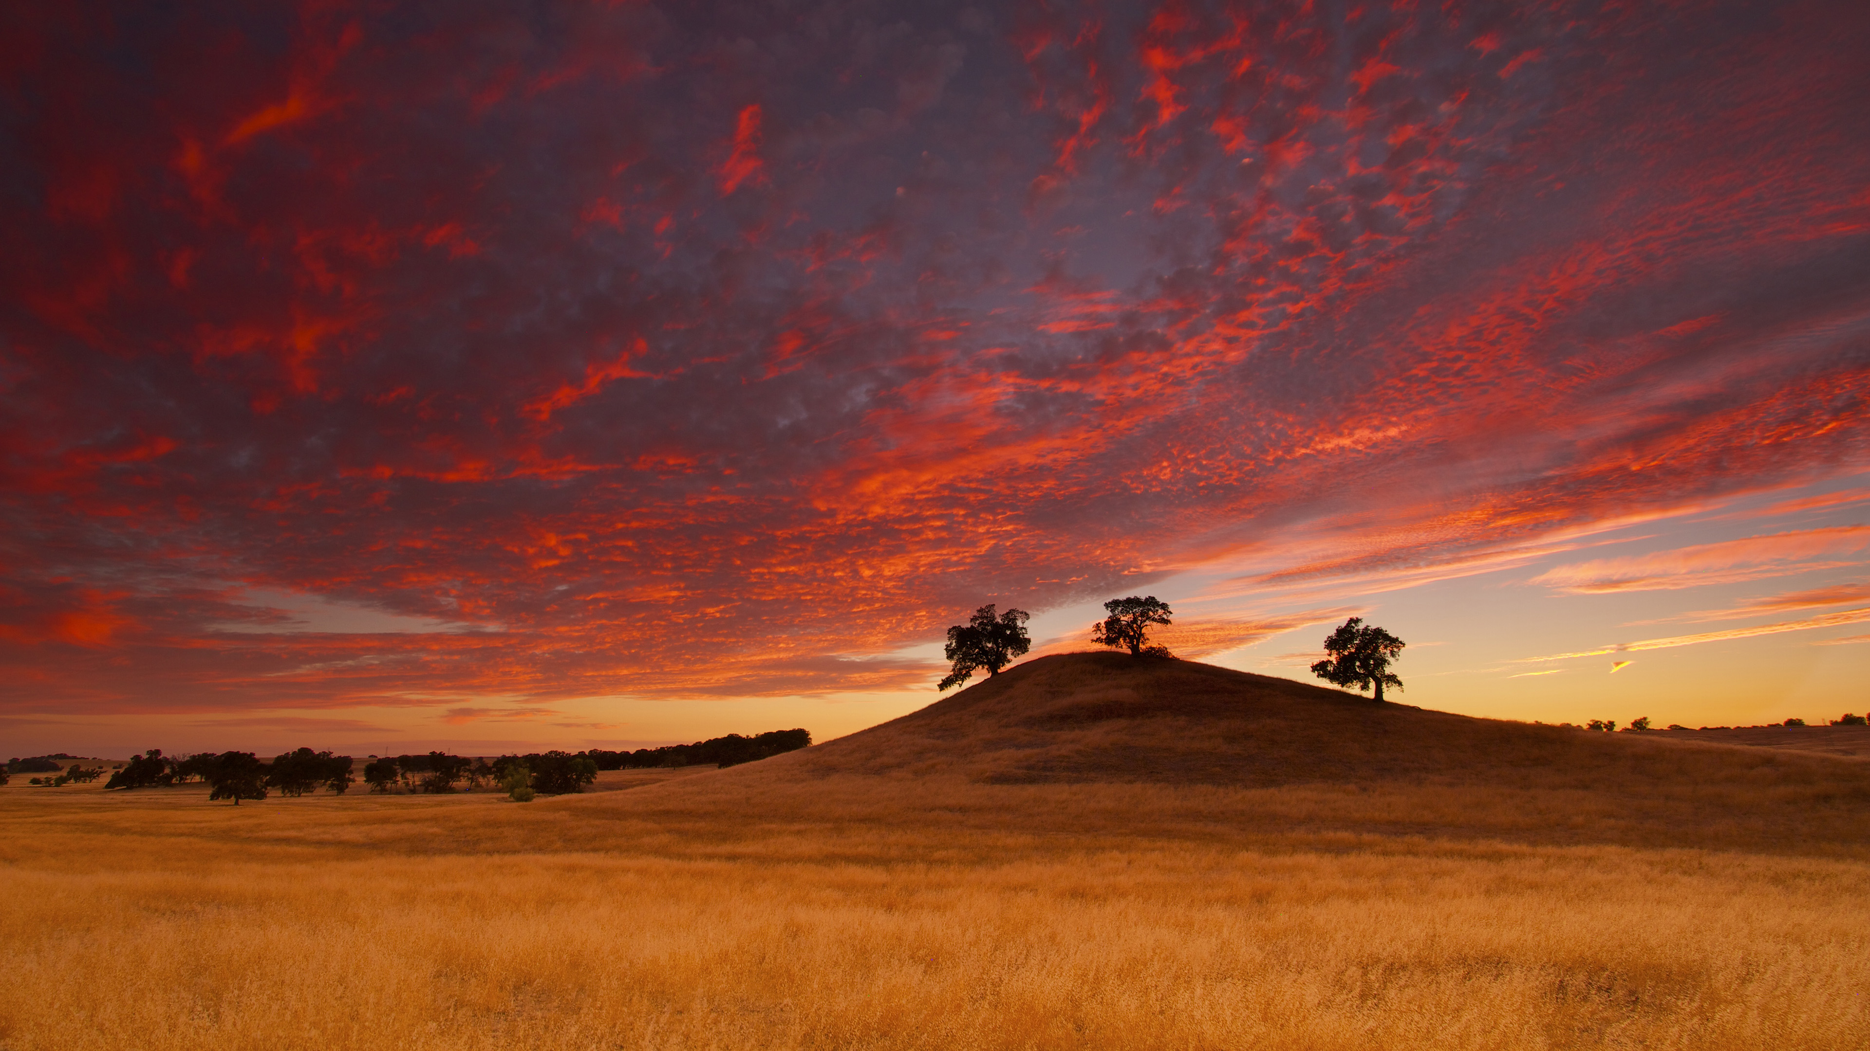
[[[737,767],[755,759],[767,759],[782,752],[793,752],[812,744],[812,733],[804,729],[772,729],[744,737],[729,733],[694,744],[668,744],[662,748],[638,748],[634,752],[610,752],[593,748],[589,752],[531,752],[527,756],[501,756],[494,761],[484,757],[451,756],[447,752],[428,752],[426,756],[383,756],[370,757],[363,767],[363,782],[370,791],[426,791],[449,793],[460,789],[481,789],[499,785],[514,799],[533,799],[533,795],[565,795],[583,791],[597,780],[598,770],[621,770],[632,767],[692,767],[714,763],[716,767]],[[7,769],[49,769],[60,770],[58,759],[71,756],[43,756],[32,759],[13,759]],[[299,797],[318,789],[344,793],[357,778],[355,759],[297,748],[275,756],[271,763],[262,761],[252,752],[202,752],[196,756],[163,756],[161,748],[151,748],[142,756],[118,767],[107,789],[140,789],[202,782],[209,787],[209,799],[230,799],[237,806],[243,799],[266,799],[269,793]],[[103,767],[86,770],[71,767],[47,784],[86,782],[103,774]],[[39,778],[34,778],[37,784]],[[6,770],[0,770],[0,784],[6,784]]]

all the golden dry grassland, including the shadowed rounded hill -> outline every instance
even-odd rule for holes
[[[531,804],[17,778],[0,1047],[1870,1045],[1870,763],[1661,737],[1060,656]]]

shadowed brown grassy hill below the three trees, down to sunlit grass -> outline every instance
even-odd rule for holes
[[[668,821],[733,806],[853,828],[1870,847],[1857,759],[1376,705],[1107,653],[1030,660],[862,733],[641,793],[617,802]]]

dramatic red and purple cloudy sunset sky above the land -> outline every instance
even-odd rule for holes
[[[619,748],[984,602],[1870,709],[1870,6],[0,13],[0,752]]]

